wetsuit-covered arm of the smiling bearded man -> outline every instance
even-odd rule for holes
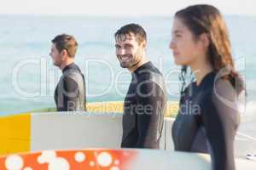
[[[160,133],[160,119],[164,119],[160,108],[164,102],[162,89],[155,82],[138,83],[137,86],[137,127],[139,138],[137,148],[158,148],[157,136]]]

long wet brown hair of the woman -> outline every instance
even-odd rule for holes
[[[192,31],[195,41],[202,33],[207,33],[210,41],[207,57],[213,70],[217,73],[228,71],[223,78],[228,79],[240,94],[245,89],[244,82],[234,68],[228,29],[218,8],[206,4],[193,5],[177,11],[175,16]]]

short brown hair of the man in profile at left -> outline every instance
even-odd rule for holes
[[[75,40],[73,36],[61,34],[56,36],[51,42],[55,43],[55,46],[60,53],[62,50],[66,49],[67,54],[71,58],[74,58],[77,52],[78,42]]]

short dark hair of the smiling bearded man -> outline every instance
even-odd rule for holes
[[[133,33],[137,39],[137,42],[139,44],[143,41],[147,41],[147,34],[146,31],[143,29],[142,26],[139,26],[137,24],[128,24],[125,26],[122,26],[118,31],[114,33],[114,37],[121,38],[122,41],[125,41],[121,36],[122,35],[130,35]]]

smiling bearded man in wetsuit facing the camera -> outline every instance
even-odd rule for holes
[[[121,147],[159,149],[166,85],[160,71],[146,58],[146,31],[129,24],[116,31],[114,37],[119,63],[132,76],[124,102]]]

